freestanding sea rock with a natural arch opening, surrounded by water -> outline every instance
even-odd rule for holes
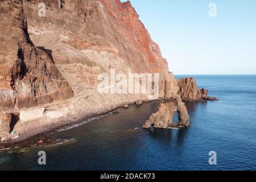
[[[172,118],[174,113],[177,111],[179,122],[174,123]],[[162,103],[159,105],[158,111],[151,115],[151,117],[143,125],[143,128],[148,129],[151,126],[155,128],[180,128],[189,127],[191,123],[189,122],[189,115],[185,104],[182,102],[180,96],[176,100]]]

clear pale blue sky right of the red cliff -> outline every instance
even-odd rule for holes
[[[209,17],[209,3],[216,3],[217,17]],[[255,0],[131,0],[131,4],[171,72],[256,74]]]

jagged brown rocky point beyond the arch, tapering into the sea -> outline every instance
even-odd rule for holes
[[[197,88],[195,78],[180,78],[179,80],[177,80],[177,86],[179,87],[179,94],[182,100],[218,100],[215,97],[209,97],[207,89]]]

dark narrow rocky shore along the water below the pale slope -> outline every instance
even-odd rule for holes
[[[163,101],[163,100],[154,100],[154,101]],[[59,118],[56,119],[51,125],[47,125],[47,123],[43,123],[41,122],[42,125],[44,125],[44,127],[36,127],[35,125],[33,125],[33,123],[31,123],[31,129],[27,129],[27,128],[19,128],[18,131],[20,131],[20,133],[17,133],[15,131],[15,133],[11,133],[10,131],[10,127],[9,125],[7,125],[7,129],[5,130],[5,138],[1,138],[0,141],[0,149],[4,149],[4,148],[20,148],[20,147],[30,147],[30,146],[52,146],[54,144],[56,144],[59,141],[49,141],[47,140],[47,136],[56,133],[56,132],[60,132],[62,130],[68,129],[68,128],[72,128],[73,126],[76,125],[81,125],[83,123],[89,122],[89,121],[93,121],[93,119],[97,119],[100,117],[104,117],[107,114],[112,114],[115,112],[118,112],[119,109],[121,108],[129,108],[129,105],[137,105],[140,106],[146,102],[154,102],[154,101],[134,101],[134,102],[130,102],[126,104],[122,104],[119,106],[114,106],[112,109],[106,109],[103,110],[101,112],[97,112],[97,113],[91,113],[91,114],[85,114],[85,115],[80,115],[79,117],[77,117],[76,119],[74,118]],[[139,102],[139,104],[138,104]],[[8,115],[8,114],[7,114]],[[1,115],[0,115],[1,116]],[[3,118],[1,116],[0,118],[1,122],[3,121]],[[34,122],[39,122],[40,118],[38,119],[38,121],[34,121]],[[7,122],[5,121],[5,123],[10,123],[10,120],[8,120]],[[26,126],[27,127],[27,126]],[[18,136],[18,137],[16,137]],[[5,140],[3,140],[5,139]],[[42,140],[43,143],[39,143],[39,141]]]

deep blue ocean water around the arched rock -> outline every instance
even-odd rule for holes
[[[131,106],[49,137],[75,142],[0,151],[0,169],[256,170],[256,76],[193,77],[220,101],[187,102],[189,128],[141,129],[159,102]],[[38,164],[39,150],[46,151],[45,166]],[[209,151],[216,151],[216,165],[209,164]]]

